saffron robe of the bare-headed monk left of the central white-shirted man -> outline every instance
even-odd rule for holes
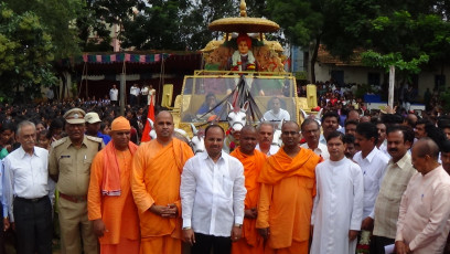
[[[164,235],[181,240],[181,172],[193,156],[191,147],[176,138],[165,147],[153,139],[136,151],[131,190],[139,210],[141,241]],[[178,218],[162,218],[149,210],[153,204],[171,203],[178,208]]]

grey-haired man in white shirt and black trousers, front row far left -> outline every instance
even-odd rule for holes
[[[3,193],[10,222],[15,223],[18,253],[52,253],[53,194],[49,179],[49,151],[35,147],[36,128],[31,121],[18,126],[21,147],[4,158]],[[8,224],[8,223],[7,223]]]

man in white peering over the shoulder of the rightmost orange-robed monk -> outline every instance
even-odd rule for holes
[[[314,119],[306,119],[301,124],[301,134],[303,135],[306,144],[301,145],[301,148],[307,148],[314,151],[315,155],[322,157],[324,160],[330,159],[330,154],[326,146],[319,142],[320,126]]]

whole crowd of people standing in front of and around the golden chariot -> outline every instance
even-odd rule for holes
[[[194,155],[165,110],[140,142],[139,104],[3,105],[3,229],[24,254],[52,253],[55,220],[62,253],[450,253],[450,117],[333,94],[281,147],[262,121],[229,155],[216,124]]]

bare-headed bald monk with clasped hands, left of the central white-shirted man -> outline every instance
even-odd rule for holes
[[[181,172],[193,157],[188,144],[172,138],[169,112],[156,117],[157,139],[143,142],[132,161],[131,190],[139,209],[141,254],[181,253]]]

